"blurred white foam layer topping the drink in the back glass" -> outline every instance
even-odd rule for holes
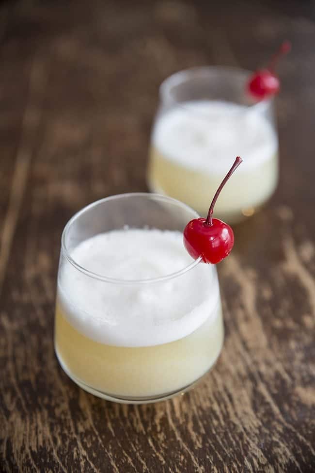
[[[257,108],[231,102],[184,102],[158,117],[153,144],[166,158],[212,174],[226,172],[239,155],[246,171],[277,151],[277,136]]]

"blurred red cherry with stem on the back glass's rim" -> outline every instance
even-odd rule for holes
[[[290,49],[291,43],[284,41],[278,51],[272,56],[267,69],[260,69],[254,72],[249,78],[247,90],[256,100],[263,100],[279,92],[280,79],[275,74],[275,66],[279,58],[287,54]]]

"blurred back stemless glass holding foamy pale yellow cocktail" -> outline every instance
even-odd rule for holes
[[[233,67],[198,67],[161,84],[147,173],[152,192],[179,199],[205,216],[240,155],[243,163],[221,192],[215,216],[240,221],[273,194],[278,182],[274,103],[250,100],[249,74]]]

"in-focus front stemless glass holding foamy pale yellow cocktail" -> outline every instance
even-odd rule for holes
[[[73,258],[75,248],[94,235],[124,228],[183,232],[197,216],[167,196],[123,194],[94,202],[65,226],[55,350],[65,373],[84,390],[110,401],[154,402],[188,390],[214,365],[223,343],[214,265],[189,259],[188,265],[172,274],[134,280],[110,278],[106,270],[92,273]],[[139,248],[140,256],[143,251],[145,247]],[[76,288],[87,292],[83,303]],[[99,295],[104,301],[101,314],[95,312]],[[156,314],[159,299],[162,314]]]

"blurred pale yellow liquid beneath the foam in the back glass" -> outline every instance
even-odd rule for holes
[[[179,164],[164,156],[155,146],[150,149],[148,184],[151,191],[181,200],[201,215],[208,212],[223,177]],[[234,223],[252,215],[273,194],[277,182],[277,153],[246,171],[237,170],[221,191],[215,216]]]

